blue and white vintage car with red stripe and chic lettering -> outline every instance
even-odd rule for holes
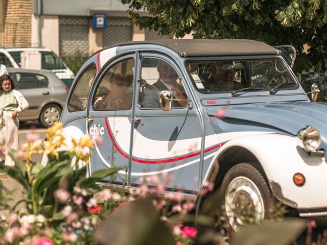
[[[236,227],[241,199],[255,207],[256,220],[275,199],[302,217],[325,216],[327,107],[300,86],[295,57],[292,46],[253,40],[107,47],[79,70],[61,122],[72,137],[102,137],[89,174],[122,166],[116,186],[171,174],[165,191],[196,202],[213,181]]]

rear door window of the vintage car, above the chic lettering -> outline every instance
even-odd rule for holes
[[[105,71],[95,97],[94,110],[129,110],[133,98],[134,59],[127,59]]]

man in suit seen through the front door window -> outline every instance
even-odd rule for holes
[[[177,83],[178,75],[175,69],[166,61],[158,60],[157,70],[159,79],[152,86],[158,89],[158,92],[169,90],[172,92],[175,99],[185,100],[173,101],[173,107],[184,107],[188,104],[183,86]],[[158,94],[145,87],[142,105],[144,108],[160,108]]]

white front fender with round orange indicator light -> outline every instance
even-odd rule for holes
[[[222,145],[214,159],[219,159],[233,146],[241,146],[258,159],[270,187],[273,187],[272,182],[277,183],[281,187],[279,194],[282,194],[285,200],[293,202],[293,205],[284,203],[297,208],[324,207],[327,203],[327,197],[323,194],[327,190],[325,159],[306,153],[296,137],[267,133],[232,139]],[[213,164],[214,161],[211,165]],[[293,182],[296,173],[301,173],[306,178],[306,183],[301,187]],[[316,199],[317,196],[320,197],[319,200]]]

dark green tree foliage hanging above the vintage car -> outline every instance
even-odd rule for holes
[[[292,44],[298,51],[295,71],[327,61],[327,1],[323,0],[122,0],[140,29],[177,38],[244,38],[270,45]],[[149,12],[151,15],[140,14]],[[303,53],[307,43],[309,54]]]

